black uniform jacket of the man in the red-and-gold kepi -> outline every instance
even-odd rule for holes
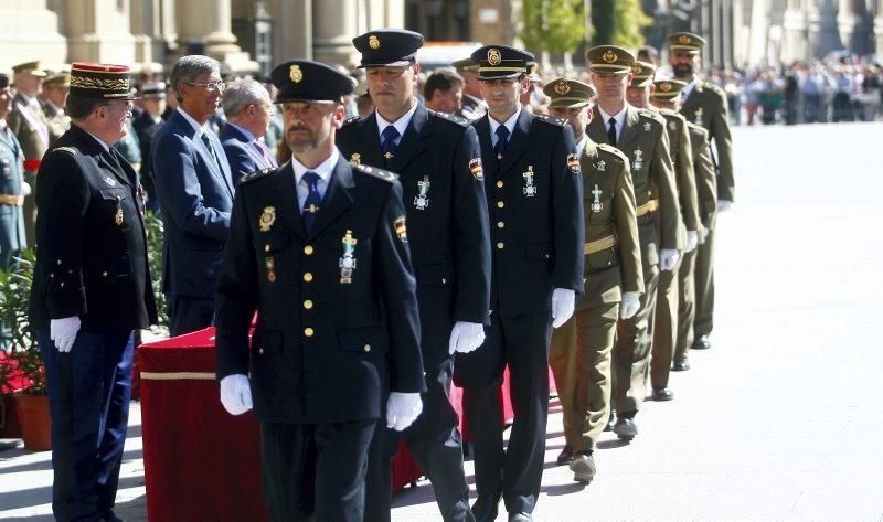
[[[73,125],[46,153],[36,184],[31,324],[79,316],[86,331],[117,332],[156,323],[135,170]]]

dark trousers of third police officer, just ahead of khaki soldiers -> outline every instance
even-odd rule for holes
[[[502,493],[510,513],[533,512],[540,496],[549,417],[551,312],[491,315],[485,344],[458,355],[455,382],[464,386],[464,414],[475,449],[479,497]],[[498,388],[509,364],[514,420],[503,450]]]

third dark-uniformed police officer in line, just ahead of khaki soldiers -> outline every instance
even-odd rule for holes
[[[491,324],[485,344],[458,355],[456,382],[475,447],[476,520],[532,520],[540,496],[549,415],[552,327],[583,291],[583,178],[566,121],[524,110],[533,55],[504,45],[477,50],[488,115],[472,125],[481,143],[491,222]],[[499,386],[509,365],[515,418],[503,449]]]

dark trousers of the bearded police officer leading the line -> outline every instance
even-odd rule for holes
[[[376,420],[260,425],[264,502],[276,522],[362,522]]]

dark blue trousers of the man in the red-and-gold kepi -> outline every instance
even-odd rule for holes
[[[113,520],[129,423],[131,332],[81,330],[67,353],[49,331],[36,339],[52,416],[52,513],[61,522]]]

